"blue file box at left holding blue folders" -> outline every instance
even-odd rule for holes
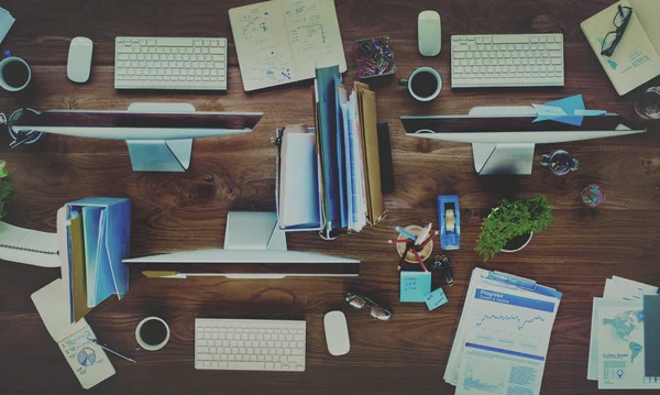
[[[113,294],[121,299],[129,292],[129,266],[122,260],[130,256],[131,200],[90,197],[66,206],[67,220],[82,215],[88,307]],[[70,273],[70,259],[68,264]]]

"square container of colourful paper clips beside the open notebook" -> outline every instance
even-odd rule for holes
[[[394,47],[387,35],[356,41],[355,56],[360,78],[384,76],[396,72]]]

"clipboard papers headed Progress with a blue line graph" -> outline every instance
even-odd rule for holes
[[[539,394],[561,293],[475,268],[444,380],[457,394]]]

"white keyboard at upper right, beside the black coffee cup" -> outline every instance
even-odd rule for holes
[[[451,87],[564,85],[562,34],[451,36]]]

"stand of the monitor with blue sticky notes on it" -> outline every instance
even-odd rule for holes
[[[521,116],[536,117],[529,106],[475,107],[470,111],[475,117]],[[534,143],[485,144],[472,143],[474,168],[480,175],[530,175],[534,165]]]

